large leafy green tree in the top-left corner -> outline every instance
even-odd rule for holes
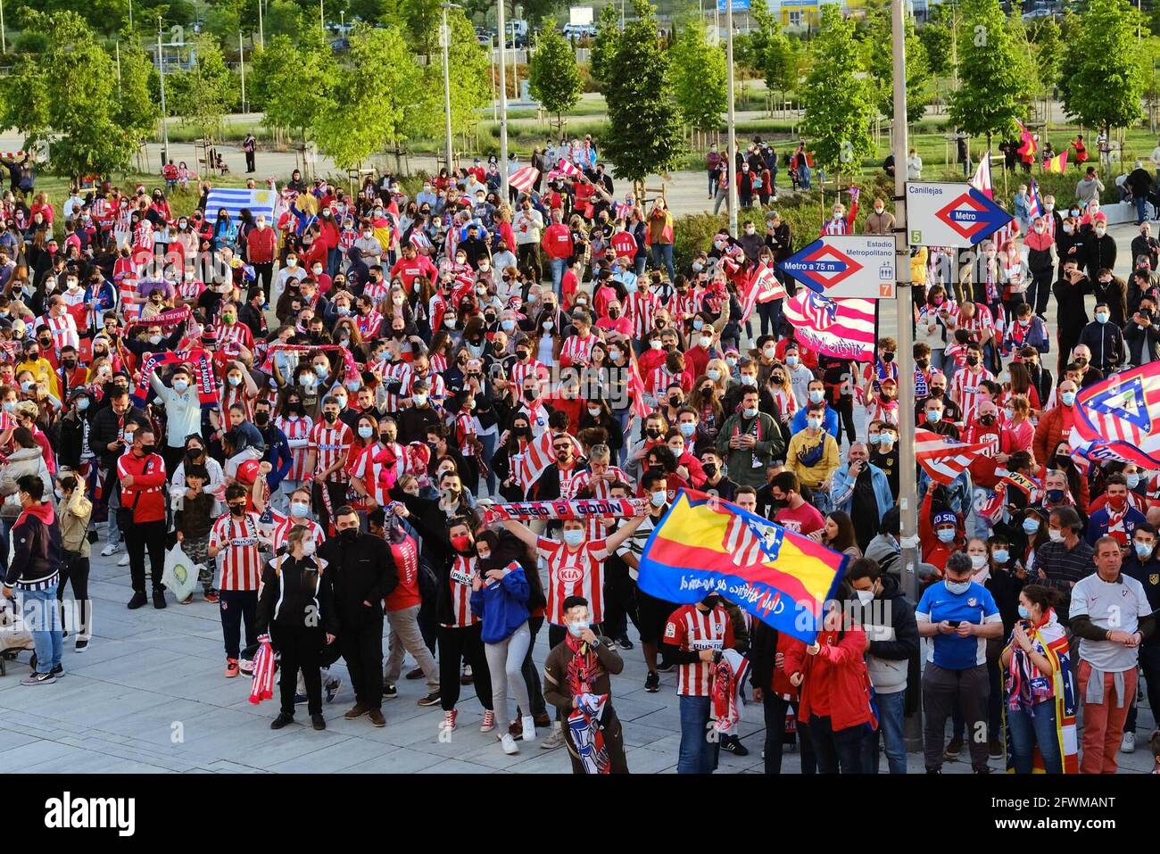
[[[125,169],[140,128],[118,123],[113,57],[74,12],[28,9],[24,21],[48,36],[46,50],[15,60],[2,104],[5,126],[23,135],[26,149],[51,142],[51,167],[61,175],[77,179]],[[139,104],[138,77],[133,65],[129,96]]]

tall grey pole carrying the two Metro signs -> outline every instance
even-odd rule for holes
[[[891,129],[894,149],[894,276],[898,287],[894,307],[898,317],[898,485],[901,511],[902,591],[911,602],[919,601],[919,484],[914,466],[914,307],[911,297],[911,249],[906,218],[906,17],[902,0],[891,0],[891,34],[894,67],[894,122]],[[912,686],[918,688],[918,686]],[[921,704],[920,704],[921,705]],[[906,747],[921,750],[922,710],[906,718]]]

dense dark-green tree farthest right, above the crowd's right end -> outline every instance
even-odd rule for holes
[[[1105,132],[1139,120],[1147,68],[1138,23],[1139,13],[1125,0],[1088,2],[1064,52],[1060,94],[1067,115]]]

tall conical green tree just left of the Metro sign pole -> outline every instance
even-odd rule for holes
[[[856,175],[862,159],[873,153],[873,107],[870,87],[860,73],[854,22],[843,19],[836,6],[824,6],[811,49],[813,68],[802,89],[802,131],[820,167]]]

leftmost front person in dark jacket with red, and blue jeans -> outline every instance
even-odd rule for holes
[[[50,685],[64,675],[60,666],[60,610],[57,584],[60,580],[60,528],[51,501],[44,498],[44,482],[37,475],[16,480],[21,512],[12,527],[12,563],[5,573],[3,595],[21,592],[24,622],[31,627],[36,667],[21,685]]]

